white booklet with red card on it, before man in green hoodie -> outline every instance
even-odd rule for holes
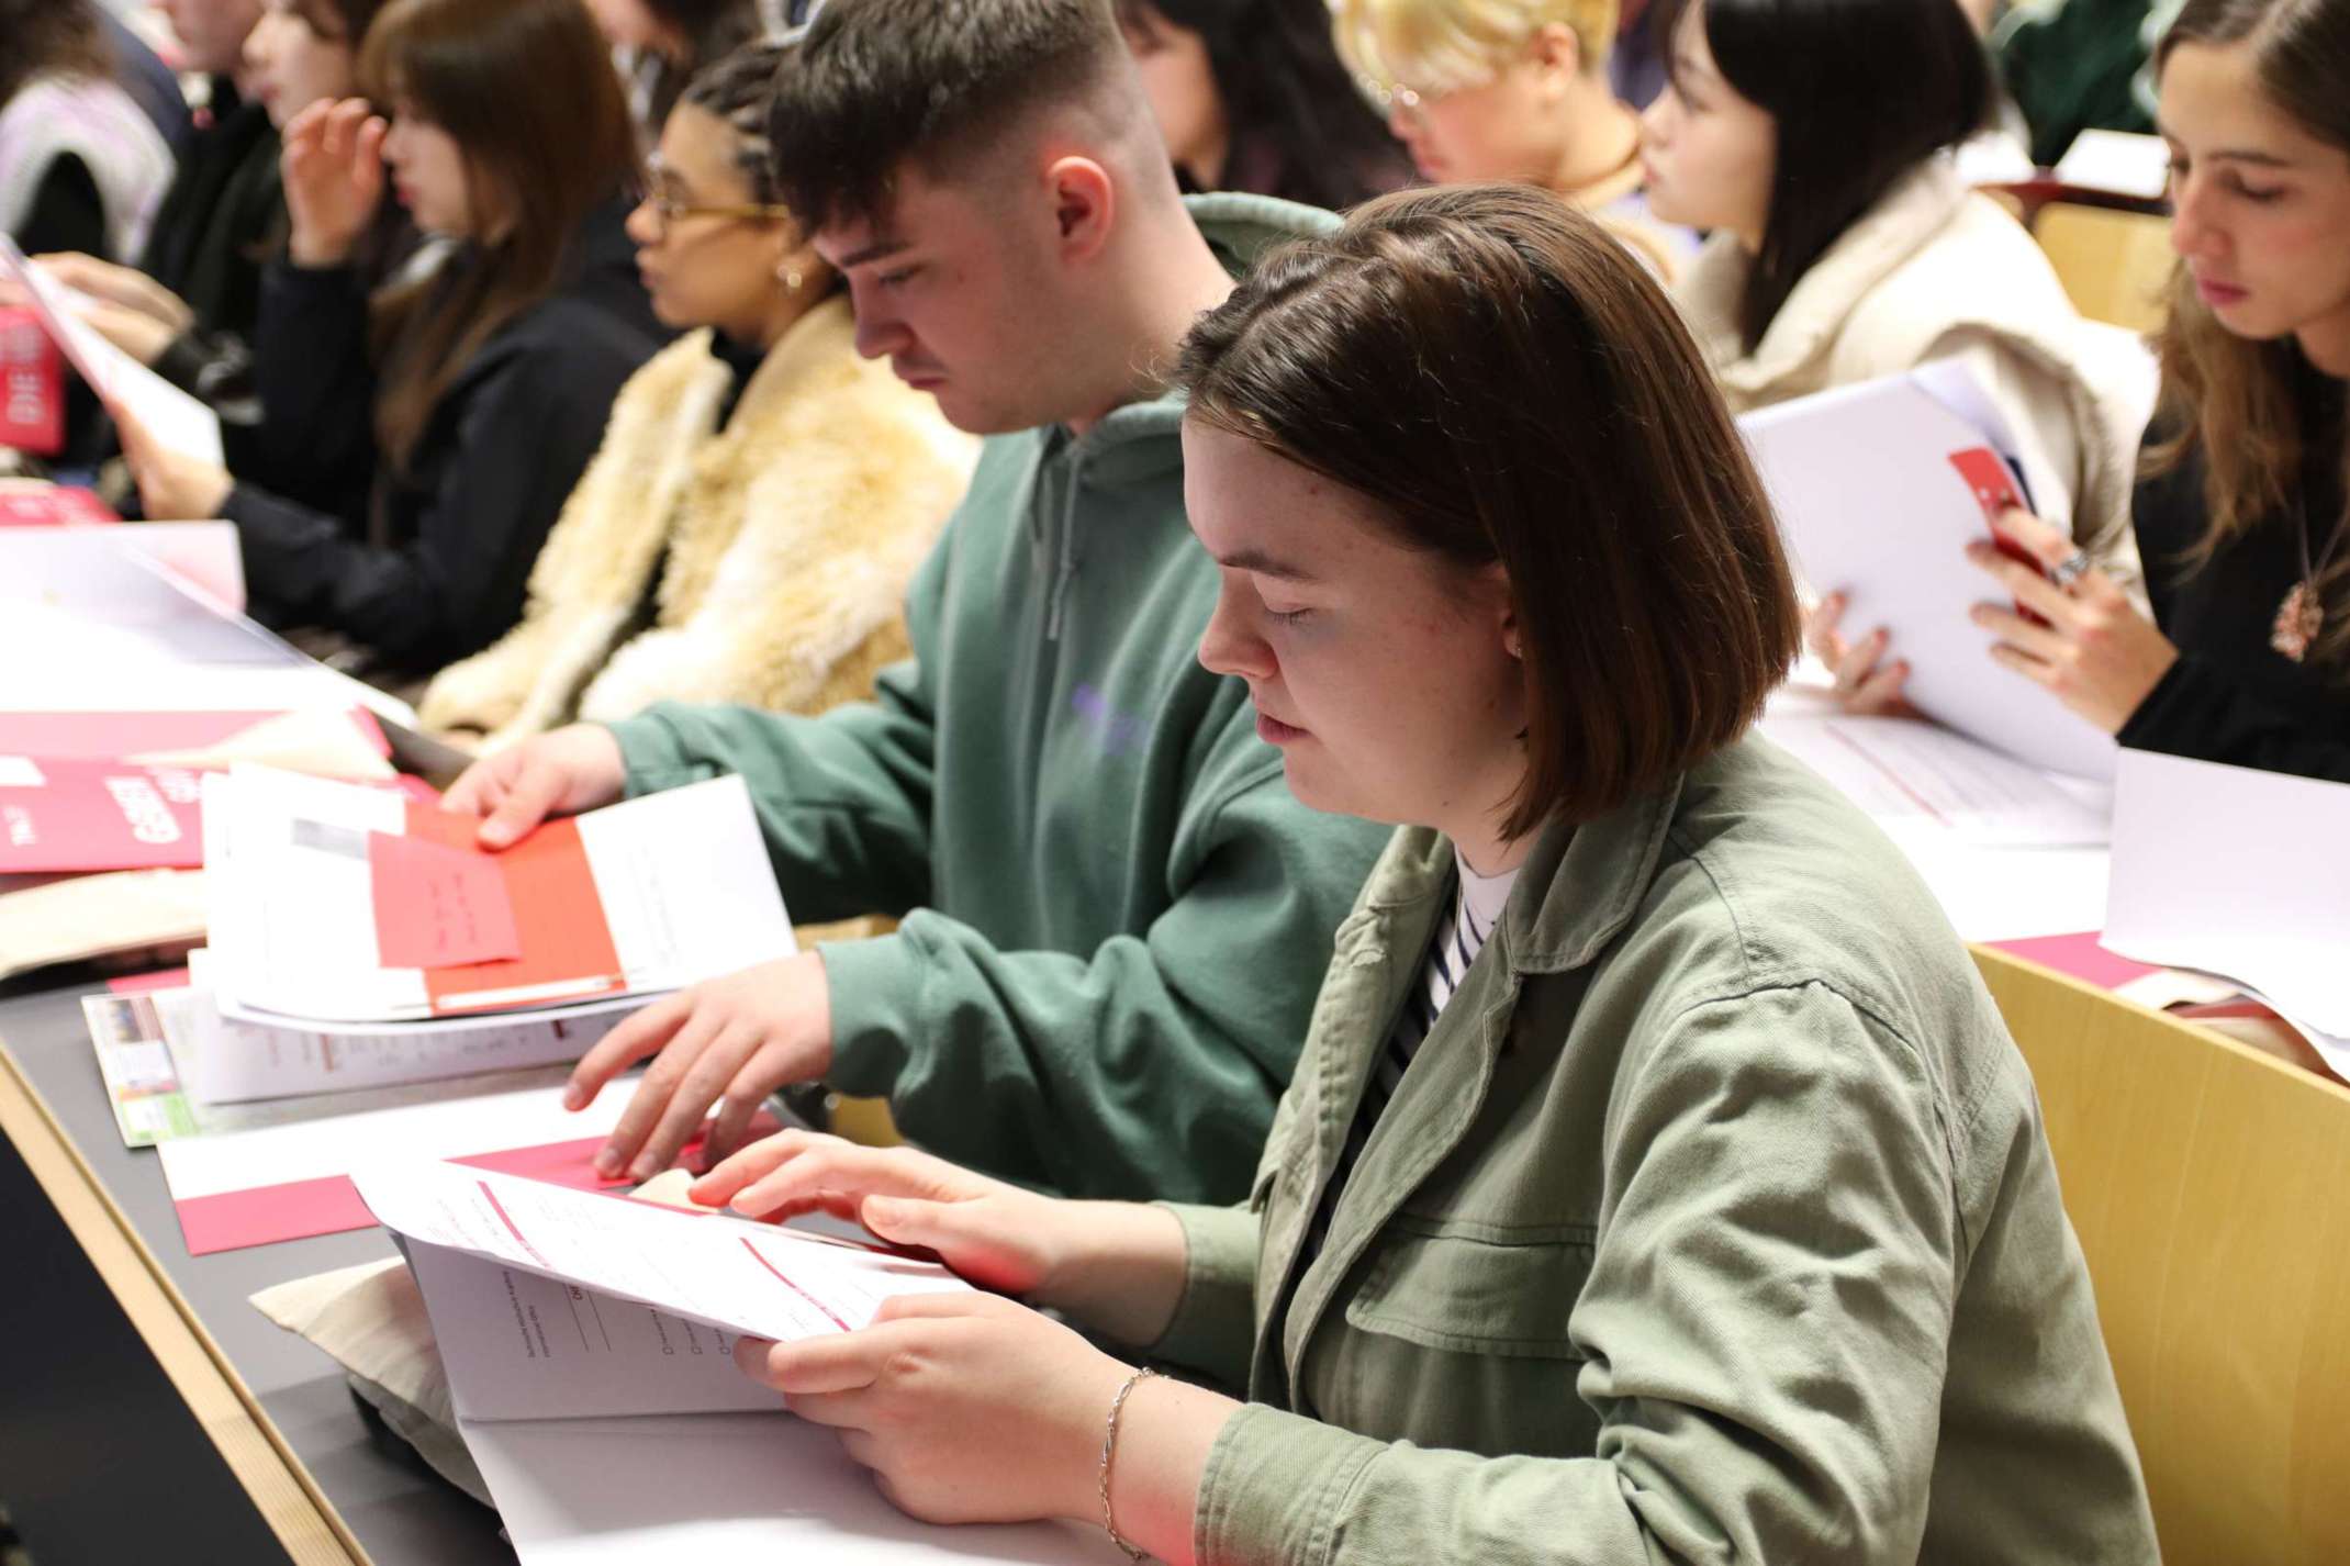
[[[642,999],[794,950],[743,778],[548,821],[503,854],[397,792],[204,778],[221,1013],[317,1032]]]

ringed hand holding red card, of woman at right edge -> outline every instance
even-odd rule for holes
[[[2009,604],[1976,604],[1969,618],[2000,637],[1990,656],[2054,691],[2106,734],[2120,734],[2178,661],[2178,649],[2101,569],[2084,569],[2070,585],[2047,576],[2073,557],[2073,538],[2063,531],[2021,510],[2007,513],[2000,531],[2030,550],[2042,569],[1988,543],[1969,543],[1967,560],[2047,623],[2033,623]]]

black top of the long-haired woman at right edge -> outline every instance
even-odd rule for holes
[[[2315,560],[2343,517],[2343,386],[2312,390],[2301,498]],[[2178,647],[2178,663],[2129,715],[2120,741],[2350,783],[2350,668],[2294,663],[2268,644],[2284,595],[2301,581],[2296,513],[2263,517],[2197,571],[2186,555],[2209,522],[2200,456],[2141,480],[2131,510],[2155,623]]]

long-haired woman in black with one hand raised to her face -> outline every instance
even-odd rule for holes
[[[263,282],[263,423],[313,473],[273,487],[125,426],[150,517],[228,517],[256,618],[430,672],[498,637],[620,383],[667,339],[623,221],[637,141],[578,0],[390,0],[367,99],[284,132],[287,259]],[[378,113],[378,106],[383,113]],[[369,292],[385,188],[439,266]],[[371,473],[341,501],[338,475]]]

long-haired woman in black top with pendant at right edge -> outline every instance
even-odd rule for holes
[[[2188,0],[2155,54],[2178,275],[2136,491],[2153,618],[2070,541],[1993,656],[2099,729],[2350,783],[2350,0]]]

